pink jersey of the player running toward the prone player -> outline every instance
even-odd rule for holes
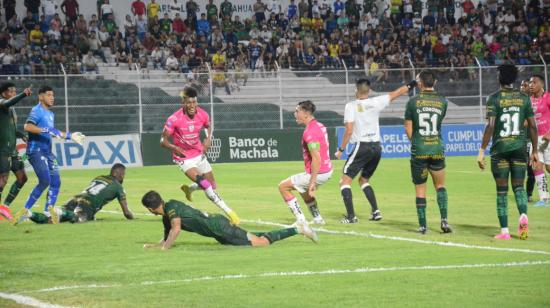
[[[183,109],[174,112],[166,120],[164,129],[172,136],[174,145],[183,150],[185,157],[172,153],[172,158],[174,160],[185,160],[202,155],[201,129],[209,126],[210,117],[200,107],[197,107],[197,112],[193,118],[187,116]]]

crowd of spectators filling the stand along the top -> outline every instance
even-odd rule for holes
[[[3,0],[1,74],[97,72],[99,63],[132,69],[220,72],[283,68],[364,68],[377,81],[383,68],[466,67],[550,62],[550,1],[481,0],[257,0],[248,18],[235,6],[173,0],[166,13],[155,0],[131,2],[117,24],[109,0],[84,16],[78,0]],[[181,2],[181,1],[180,1]],[[388,3],[389,2],[389,3]],[[379,8],[382,9],[379,9]],[[457,12],[460,10],[460,13]],[[199,12],[202,12],[199,14]],[[456,13],[456,14],[455,14]],[[455,16],[460,16],[455,18]],[[464,70],[457,78],[475,78]],[[405,76],[402,76],[405,79]],[[220,76],[223,79],[223,76]]]

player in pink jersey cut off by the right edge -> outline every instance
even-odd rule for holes
[[[544,77],[534,75],[530,79],[529,90],[531,92],[531,105],[535,112],[535,121],[537,122],[537,130],[539,134],[537,151],[539,162],[535,164],[533,172],[539,190],[539,201],[535,206],[550,206],[550,196],[548,194],[548,185],[544,175],[550,172],[550,92],[544,91]]]

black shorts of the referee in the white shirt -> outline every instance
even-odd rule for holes
[[[378,167],[380,157],[380,142],[358,142],[346,160],[344,174],[353,179],[361,172],[362,177],[370,179]]]

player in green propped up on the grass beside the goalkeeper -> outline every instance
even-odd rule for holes
[[[57,224],[66,221],[71,223],[86,222],[94,220],[95,214],[115,198],[120,203],[124,217],[134,219],[134,215],[128,209],[126,193],[122,187],[125,175],[126,167],[120,163],[114,164],[109,175],[94,178],[90,186],[71,198],[67,204],[54,207],[54,210],[51,211],[51,219],[38,212],[33,212],[29,219],[38,224]]]

